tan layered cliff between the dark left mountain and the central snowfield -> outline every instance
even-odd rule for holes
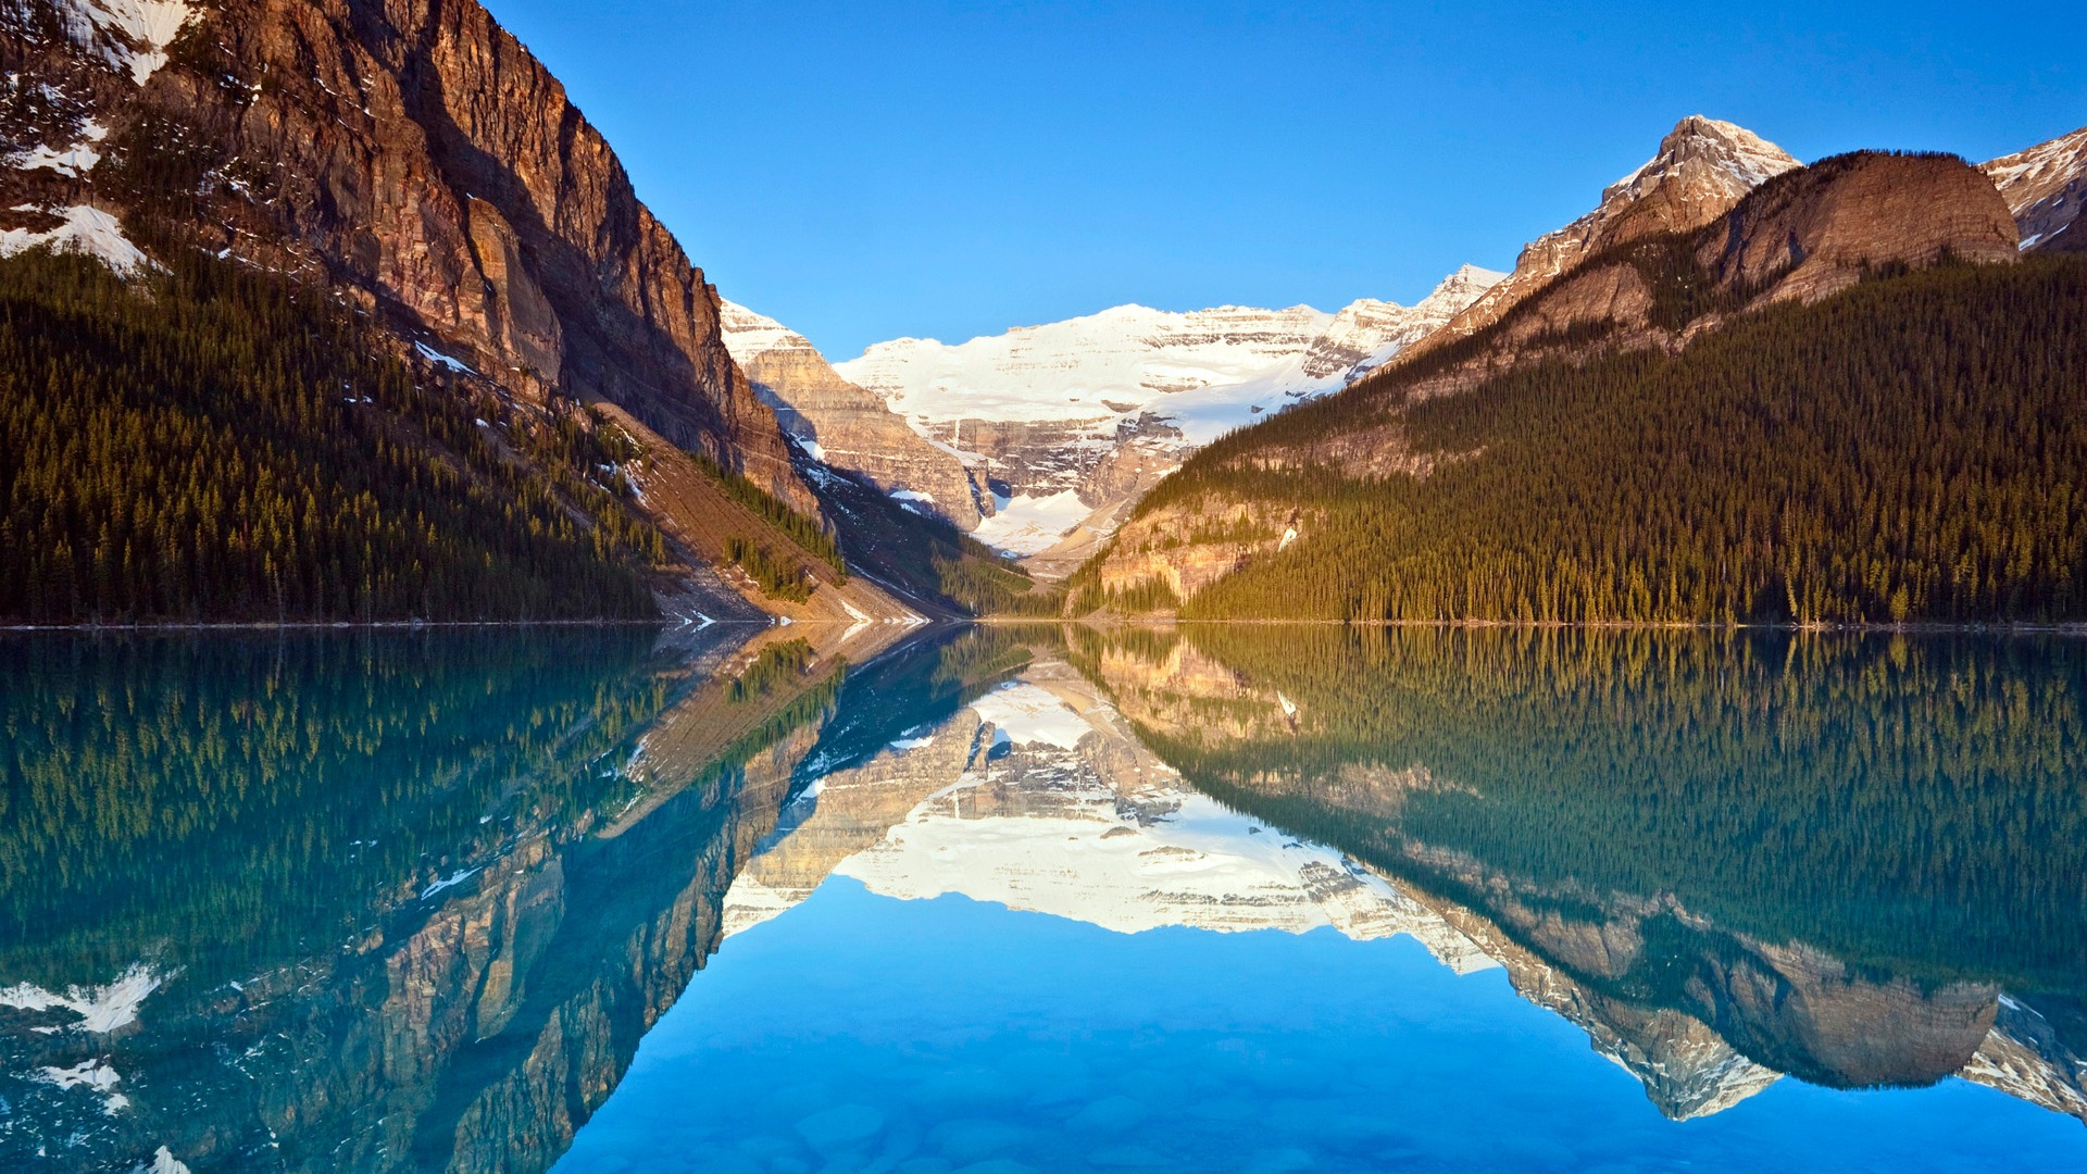
[[[962,531],[993,512],[983,472],[954,449],[912,430],[877,395],[847,382],[795,330],[724,303],[724,345],[776,412],[789,437],[816,460],[860,472],[885,493],[931,510]]]

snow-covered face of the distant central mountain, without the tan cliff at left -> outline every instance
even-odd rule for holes
[[[991,487],[975,537],[1037,556],[1106,535],[1194,449],[1354,382],[1498,280],[1465,265],[1417,305],[1363,299],[1340,313],[1119,305],[960,345],[879,343],[835,370]],[[749,349],[774,338],[747,330]]]

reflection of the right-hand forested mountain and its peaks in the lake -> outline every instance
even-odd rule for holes
[[[1210,631],[1083,660],[1198,788],[1398,877],[1672,1116],[1780,1072],[2087,1120],[2077,643]]]

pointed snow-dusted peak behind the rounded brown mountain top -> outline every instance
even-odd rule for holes
[[[1659,232],[1703,228],[1741,196],[1797,165],[1786,150],[1745,127],[1690,115],[1659,140],[1659,150],[1636,171],[1603,188],[1594,211],[1524,246],[1507,280],[1496,282],[1411,355],[1484,330],[1603,249]]]

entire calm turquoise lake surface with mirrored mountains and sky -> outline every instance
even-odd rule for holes
[[[0,639],[0,1170],[2087,1166],[2087,648]]]

